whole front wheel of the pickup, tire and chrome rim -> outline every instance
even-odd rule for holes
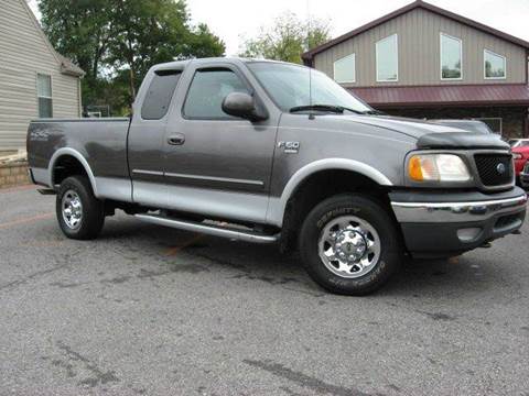
[[[325,289],[361,296],[382,286],[400,265],[395,221],[376,199],[338,195],[319,204],[300,232],[300,255]]]

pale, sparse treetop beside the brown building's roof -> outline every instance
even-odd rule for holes
[[[302,21],[292,12],[276,19],[255,38],[247,40],[240,56],[301,64],[301,54],[327,42],[330,26],[322,20]]]

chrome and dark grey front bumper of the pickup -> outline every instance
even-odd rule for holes
[[[449,256],[473,250],[518,230],[526,217],[527,195],[507,193],[390,194],[404,243],[413,256]]]

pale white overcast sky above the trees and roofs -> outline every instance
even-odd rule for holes
[[[140,0],[141,1],[141,0]],[[257,35],[285,11],[330,22],[336,37],[412,0],[187,0],[195,23],[207,23],[237,55],[245,37]],[[28,1],[39,18],[36,0]],[[430,3],[529,41],[529,0],[430,0]]]

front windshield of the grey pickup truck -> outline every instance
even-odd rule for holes
[[[334,106],[357,112],[374,111],[323,73],[312,69],[310,81],[309,67],[269,62],[251,62],[248,67],[283,111],[311,105]],[[311,86],[312,101],[309,95]]]

